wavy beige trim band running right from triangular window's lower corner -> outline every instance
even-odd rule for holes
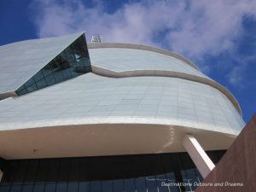
[[[187,80],[195,81],[201,84],[207,84],[219,90],[220,92],[222,92],[224,96],[227,96],[230,102],[232,102],[232,104],[238,111],[238,113],[241,114],[241,108],[240,108],[239,102],[237,102],[236,97],[231,94],[230,90],[227,90],[221,84],[218,84],[216,81],[212,81],[210,79],[202,78],[202,77],[188,74],[188,73],[179,73],[179,72],[162,71],[162,70],[134,70],[134,71],[114,72],[106,68],[96,67],[93,63],[91,63],[91,69],[92,69],[92,73],[96,73],[97,75],[102,75],[109,78],[160,76],[160,77],[187,79]]]

